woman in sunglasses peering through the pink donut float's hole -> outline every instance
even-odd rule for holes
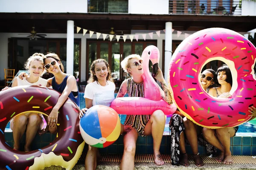
[[[204,91],[207,91],[208,88],[212,88],[215,85],[215,79],[217,79],[217,75],[214,70],[206,69],[202,72],[200,77],[201,87]],[[204,165],[203,160],[201,159],[198,153],[198,143],[200,145],[204,145],[204,139],[202,136],[202,127],[196,125],[191,120],[187,119],[186,117],[183,118],[184,127],[185,127],[185,134],[188,142],[192,148],[193,159],[195,161],[195,165],[201,167]],[[195,137],[197,136],[197,137]],[[212,145],[207,145],[207,152],[213,152]],[[189,166],[188,155],[186,153],[185,148],[185,141],[183,135],[180,135],[180,152],[181,152],[181,161],[180,164],[187,167]],[[209,154],[209,153],[208,153]]]

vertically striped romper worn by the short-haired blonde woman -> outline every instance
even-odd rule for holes
[[[133,78],[129,78],[127,82],[127,93],[129,97],[144,97],[143,82],[136,84]],[[125,125],[133,127],[138,136],[145,136],[144,128],[150,119],[150,115],[127,115],[125,119]]]

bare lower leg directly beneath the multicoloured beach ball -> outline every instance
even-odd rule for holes
[[[98,148],[88,146],[88,151],[84,161],[86,170],[96,170],[97,167],[97,153]]]

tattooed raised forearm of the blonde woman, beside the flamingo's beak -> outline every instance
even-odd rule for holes
[[[159,81],[162,85],[163,90],[159,87],[160,92],[161,92],[161,97],[163,98],[163,100],[165,100],[169,105],[172,105],[172,96],[171,93],[169,91],[168,86],[166,85],[166,81],[163,77],[163,72],[160,70],[160,68],[158,67],[158,73],[155,77],[157,79],[157,81]]]

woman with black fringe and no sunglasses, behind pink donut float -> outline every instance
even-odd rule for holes
[[[227,65],[222,65],[217,70],[216,84],[220,85],[217,88],[211,88],[209,95],[214,97],[229,98],[231,96],[230,90],[232,87],[232,75],[230,68]],[[213,146],[221,150],[216,161],[223,161],[224,164],[232,164],[231,151],[230,151],[230,138],[236,135],[237,127],[224,127],[219,129],[203,128],[204,138]]]

